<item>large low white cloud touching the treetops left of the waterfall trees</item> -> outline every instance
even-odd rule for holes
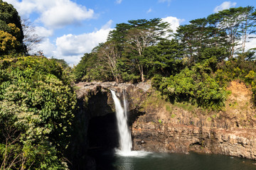
[[[71,65],[78,64],[80,57],[85,52],[91,52],[99,43],[107,40],[110,30],[113,30],[111,24],[112,20],[108,21],[100,30],[95,30],[92,33],[63,35],[56,38],[55,45],[49,39],[46,39],[38,46],[38,49],[43,50],[43,54],[46,57],[64,59]]]

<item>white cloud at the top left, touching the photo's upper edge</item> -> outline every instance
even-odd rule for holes
[[[70,0],[6,0],[13,4],[23,18],[31,13],[38,13],[38,21],[49,28],[62,28],[86,19],[94,18],[92,9],[76,4]]]

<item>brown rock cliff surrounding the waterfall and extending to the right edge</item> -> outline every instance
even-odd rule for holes
[[[169,103],[151,89],[150,82],[137,85],[92,82],[77,86],[78,97],[85,101],[87,114],[91,120],[95,118],[96,123],[97,118],[114,116],[109,89],[117,91],[120,98],[125,90],[135,150],[204,152],[256,159],[256,112],[250,101],[252,94],[238,81],[228,87],[231,93],[225,109],[220,112],[209,112],[186,103]],[[109,120],[114,123],[114,118]],[[109,135],[117,137],[113,133],[116,127],[111,127]],[[94,139],[98,140],[102,139]],[[117,147],[117,140],[112,147],[114,145]]]

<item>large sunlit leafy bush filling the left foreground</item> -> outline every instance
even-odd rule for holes
[[[19,57],[0,61],[0,75],[1,169],[65,169],[76,96],[63,68]]]

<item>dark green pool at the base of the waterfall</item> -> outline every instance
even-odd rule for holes
[[[122,157],[119,154],[98,155],[97,169],[113,170],[252,170],[256,162],[250,159],[215,154],[150,153]]]

